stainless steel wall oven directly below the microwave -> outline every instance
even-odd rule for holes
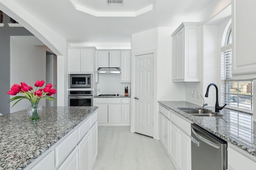
[[[68,106],[93,106],[93,90],[69,90]]]

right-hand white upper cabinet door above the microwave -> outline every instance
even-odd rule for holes
[[[93,49],[81,50],[81,72],[93,72]]]

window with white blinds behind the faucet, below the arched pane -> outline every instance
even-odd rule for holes
[[[228,106],[252,110],[251,79],[231,80],[232,78],[232,49],[231,44],[221,47],[221,100]]]

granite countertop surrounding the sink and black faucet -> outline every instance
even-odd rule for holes
[[[252,114],[224,108],[220,110],[223,116],[192,116],[180,109],[200,109],[202,106],[184,101],[158,102],[214,135],[256,156],[256,121],[253,121]],[[206,109],[214,111],[215,107],[206,107]]]

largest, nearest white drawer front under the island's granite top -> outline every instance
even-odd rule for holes
[[[78,143],[78,129],[72,132],[57,147],[55,147],[55,166],[58,166]]]

